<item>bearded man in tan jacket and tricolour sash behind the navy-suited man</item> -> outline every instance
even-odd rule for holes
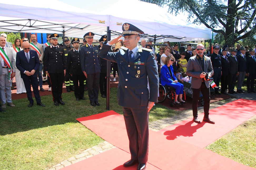
[[[36,42],[36,34],[31,34],[30,35],[31,43],[30,43],[30,49],[35,50],[37,52],[37,55],[39,57],[40,65],[37,70],[37,75],[38,75],[38,81],[39,81],[39,86],[40,90],[44,92],[45,90],[43,89],[43,76],[42,76],[42,70],[43,70],[43,46],[39,43]]]

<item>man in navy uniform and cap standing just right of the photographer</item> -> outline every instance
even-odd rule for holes
[[[216,84],[216,87],[214,87],[215,94],[220,95],[219,92],[219,85],[220,85],[220,77],[221,77],[221,58],[219,55],[220,47],[218,45],[215,45],[213,47],[213,54],[211,54],[209,57],[211,58],[211,65],[213,66],[213,81]]]

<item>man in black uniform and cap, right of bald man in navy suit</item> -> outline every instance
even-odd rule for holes
[[[66,73],[66,60],[63,47],[58,46],[58,34],[50,36],[51,45],[45,48],[43,64],[45,73],[50,77],[52,83],[52,96],[54,105],[64,105],[62,101],[62,85]]]

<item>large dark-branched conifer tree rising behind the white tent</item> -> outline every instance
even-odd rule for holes
[[[256,33],[256,0],[141,0],[166,5],[169,12],[187,12],[188,20],[213,28],[223,35],[225,44],[234,46],[235,42],[254,36]]]

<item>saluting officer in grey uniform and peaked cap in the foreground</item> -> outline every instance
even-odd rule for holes
[[[121,41],[120,35],[103,44],[100,57],[117,62],[118,65],[120,76],[117,99],[123,108],[131,153],[131,160],[125,162],[124,166],[139,163],[137,169],[142,170],[146,168],[148,159],[149,111],[157,102],[159,79],[154,53],[138,45],[140,35],[144,32],[129,23],[124,23],[122,30],[127,48],[109,52],[112,44]]]

